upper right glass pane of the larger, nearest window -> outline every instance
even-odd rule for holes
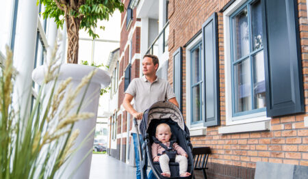
[[[262,37],[262,15],[261,15],[261,2],[257,1],[251,5],[252,9],[252,29],[253,29],[253,51],[260,49],[263,46]]]

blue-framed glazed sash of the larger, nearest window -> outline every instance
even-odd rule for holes
[[[247,1],[230,16],[232,115],[266,111],[261,1]]]

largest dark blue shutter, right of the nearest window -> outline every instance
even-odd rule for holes
[[[305,112],[297,1],[264,0],[262,10],[267,115]]]

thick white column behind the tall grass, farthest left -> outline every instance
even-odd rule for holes
[[[38,26],[38,6],[33,0],[20,0],[16,25],[14,48],[14,66],[18,71],[14,86],[14,106],[21,107],[21,116],[29,113],[31,107],[32,79],[36,51],[36,33]]]

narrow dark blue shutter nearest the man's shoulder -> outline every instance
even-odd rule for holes
[[[182,48],[173,53],[173,90],[182,111]]]

